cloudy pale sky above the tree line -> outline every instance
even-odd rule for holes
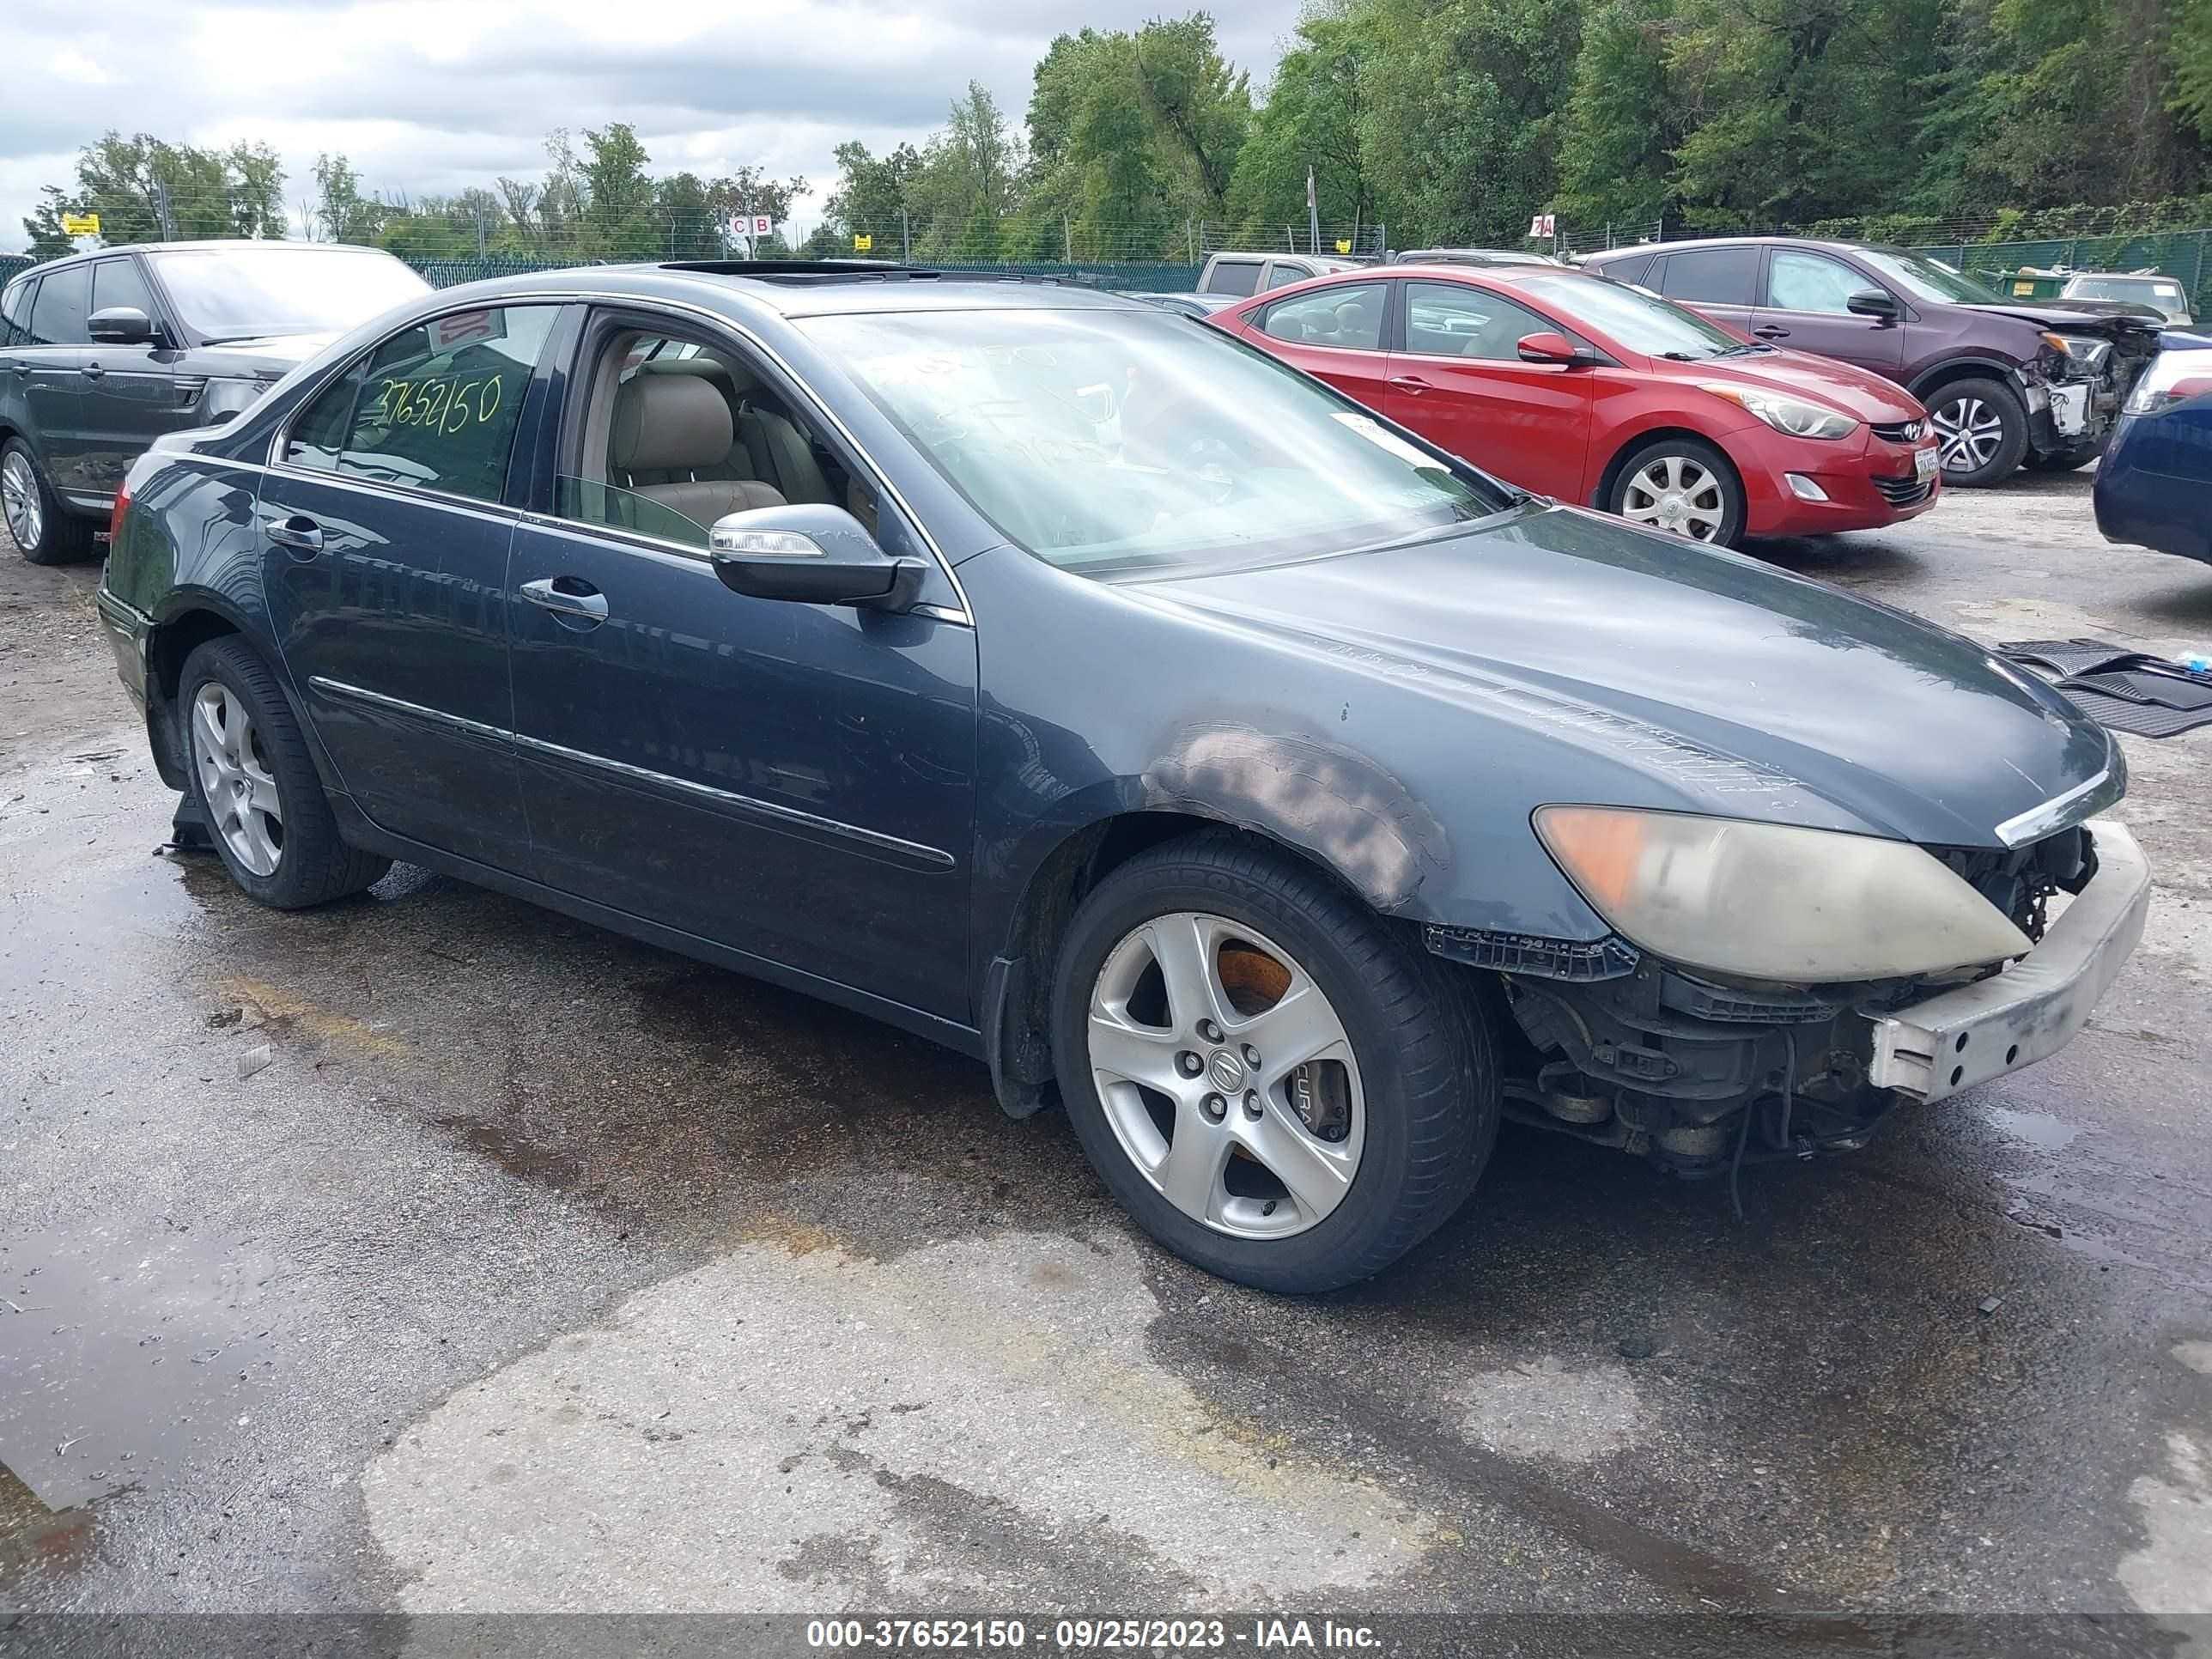
[[[637,126],[653,173],[741,164],[816,188],[847,137],[920,139],[969,82],[1020,122],[1051,38],[1121,29],[1177,0],[0,0],[0,250],[42,184],[106,128],[285,157],[285,195],[343,150],[369,190],[434,195],[535,177],[549,128]],[[1298,0],[1217,0],[1254,86]]]

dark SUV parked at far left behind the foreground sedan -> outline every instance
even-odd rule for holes
[[[33,564],[93,544],[164,431],[248,407],[334,334],[429,292],[374,248],[179,241],[33,265],[0,290],[0,511]]]

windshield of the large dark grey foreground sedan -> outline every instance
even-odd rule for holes
[[[1398,542],[1517,500],[1188,319],[907,312],[803,327],[1000,535],[1086,575]]]

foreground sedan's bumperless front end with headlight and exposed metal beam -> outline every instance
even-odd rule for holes
[[[2055,1053],[2132,951],[2148,902],[2141,852],[2110,821],[2017,847],[1836,838],[1860,841],[1840,852],[1865,865],[1843,880],[1829,867],[1785,896],[1772,854],[1818,847],[1809,838],[1823,832],[1582,816],[1571,832],[1579,845],[1566,845],[1557,818],[1546,845],[1599,914],[1617,929],[1630,918],[1677,960],[1628,929],[1566,945],[1431,925],[1427,945],[1498,973],[1513,1015],[1509,1117],[1679,1175],[1854,1150],[1900,1102],[1936,1102]],[[1659,834],[1646,827],[1655,818],[1668,821]],[[1732,834],[1752,849],[1717,852]],[[1650,889],[1644,902],[1637,883]],[[1838,900],[1856,900],[1856,914]],[[1736,929],[1721,949],[1759,967],[1756,978],[1712,962],[1705,940],[1719,933],[1688,916],[1692,905]],[[1929,925],[1927,911],[1944,907]],[[1922,914],[1918,927],[1907,911]],[[1909,971],[1869,971],[1882,949]],[[1798,978],[1770,978],[1790,960]]]

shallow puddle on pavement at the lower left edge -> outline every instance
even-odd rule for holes
[[[166,1221],[0,1245],[0,1557],[38,1511],[153,1486],[272,1383],[261,1259]]]

